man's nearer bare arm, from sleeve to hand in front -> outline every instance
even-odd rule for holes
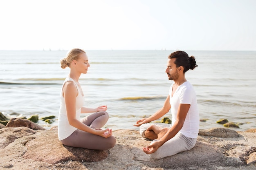
[[[160,146],[162,146],[166,141],[173,138],[183,127],[184,121],[186,119],[186,115],[189,111],[190,104],[180,104],[177,112],[177,120],[175,124],[168,130],[168,132],[158,141],[155,141],[150,146],[146,146],[143,148],[143,151],[146,154],[154,153]]]

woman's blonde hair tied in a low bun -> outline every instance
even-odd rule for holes
[[[61,63],[61,68],[66,68],[68,66],[70,66],[70,63],[73,60],[78,60],[79,55],[81,53],[85,53],[85,51],[81,50],[81,49],[72,49],[70,51],[67,52],[67,55],[65,58],[61,59],[60,63]]]

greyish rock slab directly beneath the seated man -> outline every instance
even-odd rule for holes
[[[207,162],[216,162],[224,159],[224,155],[216,146],[207,144],[202,141],[197,141],[194,148],[189,151],[181,152],[171,157],[164,159],[151,159],[150,155],[146,155],[141,148],[148,145],[150,141],[143,139],[138,140],[131,148],[136,161],[144,162],[150,167],[164,168],[180,168],[181,166],[188,167],[192,163],[204,164]],[[182,162],[182,165],[180,164]],[[157,166],[156,166],[157,165]]]

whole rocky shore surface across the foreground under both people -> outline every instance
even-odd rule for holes
[[[204,130],[204,132],[211,130]],[[215,130],[216,131],[216,130]],[[217,129],[222,133],[223,129]],[[103,151],[63,146],[57,128],[0,129],[0,170],[255,170],[256,133],[236,137],[198,136],[195,147],[164,159],[141,148],[150,143],[138,130],[115,130],[114,148]],[[94,162],[91,162],[94,160]]]

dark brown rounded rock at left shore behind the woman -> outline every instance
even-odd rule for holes
[[[34,130],[43,130],[45,128],[41,127],[40,125],[27,120],[27,119],[20,119],[20,118],[12,118],[8,124],[5,126],[6,128],[8,127],[20,127],[20,126],[25,126],[27,128],[31,128]]]

